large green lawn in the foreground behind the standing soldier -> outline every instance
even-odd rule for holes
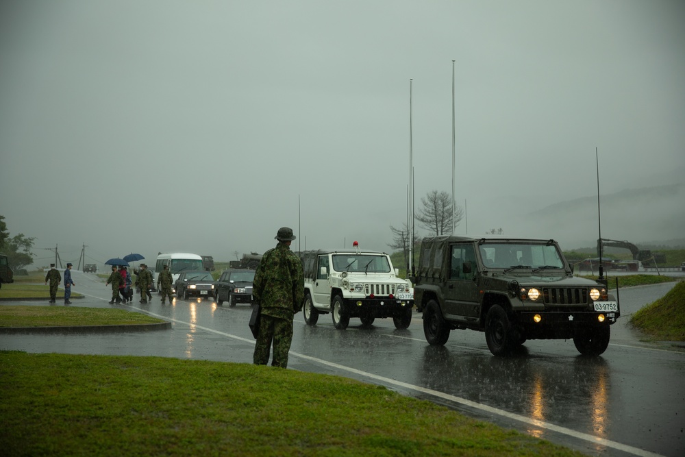
[[[3,455],[581,456],[337,376],[0,351]]]

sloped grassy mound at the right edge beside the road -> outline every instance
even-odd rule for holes
[[[685,341],[685,282],[638,310],[630,323],[656,341]]]

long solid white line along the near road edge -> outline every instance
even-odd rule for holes
[[[129,306],[129,305],[126,305],[126,306]],[[131,308],[133,308],[133,306],[131,306]],[[162,316],[160,314],[155,314],[153,312],[149,312],[146,310],[142,310],[140,308],[134,308],[134,309],[145,312],[145,314],[149,314],[149,315],[154,316],[154,317],[159,317],[160,319],[166,319],[166,320],[173,321],[176,323],[182,323],[184,325],[189,325],[190,327],[195,327],[195,328],[199,328],[201,330],[205,330],[206,332],[211,332],[211,333],[227,336],[228,338],[234,338],[236,340],[244,341],[245,343],[255,344],[255,341],[252,339],[249,339],[249,338],[243,338],[242,336],[232,335],[232,334],[229,334],[226,332],[221,332],[219,330],[214,330],[212,328],[203,327],[202,325],[197,325],[195,323],[190,323],[190,322],[186,322],[186,321],[179,321],[178,319],[171,319],[169,317]],[[493,408],[492,406],[487,406],[487,405],[484,405],[481,403],[472,402],[471,400],[467,400],[467,399],[462,398],[462,397],[456,397],[455,395],[449,395],[447,393],[434,391],[431,388],[425,388],[425,387],[421,387],[421,386],[416,386],[414,384],[408,384],[406,382],[393,380],[390,378],[386,378],[384,376],[379,376],[379,375],[375,375],[373,373],[368,373],[366,371],[361,371],[361,370],[358,370],[356,368],[345,367],[345,365],[338,365],[337,363],[329,362],[327,360],[322,360],[320,358],[306,356],[304,354],[299,354],[299,353],[294,352],[294,351],[290,351],[290,354],[292,354],[295,357],[302,358],[304,360],[309,360],[310,362],[316,362],[316,363],[319,363],[321,365],[326,365],[328,367],[332,367],[332,368],[335,368],[335,369],[338,369],[341,371],[347,371],[349,373],[355,373],[356,375],[361,375],[361,376],[364,376],[365,378],[371,378],[373,380],[377,380],[377,381],[383,382],[385,384],[391,384],[393,386],[398,386],[398,387],[405,388],[405,389],[408,389],[411,391],[421,392],[421,393],[425,393],[427,395],[432,395],[433,397],[446,399],[449,402],[459,403],[459,404],[462,404],[465,406],[469,406],[470,408],[475,408],[477,410],[489,412],[490,414],[493,414],[493,415],[506,417],[508,419],[513,419],[515,421],[534,425],[534,426],[539,427],[539,428],[545,428],[547,430],[551,430],[552,432],[557,432],[560,434],[572,436],[575,439],[580,439],[580,440],[588,441],[590,443],[595,443],[598,445],[610,447],[612,449],[616,449],[616,450],[619,450],[622,452],[627,452],[628,454],[633,454],[635,456],[663,457],[661,454],[655,454],[653,452],[645,451],[644,449],[638,449],[637,447],[632,447],[629,445],[616,443],[616,441],[611,441],[608,439],[600,438],[599,436],[593,436],[593,435],[590,435],[587,433],[577,432],[575,430],[571,430],[570,428],[561,427],[559,425],[554,425],[553,423],[538,421],[537,419],[531,419],[530,417],[517,415],[517,414],[514,414],[513,412],[508,412],[508,411],[501,410],[498,408]]]

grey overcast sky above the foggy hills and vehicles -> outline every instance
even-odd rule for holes
[[[451,194],[452,60],[458,234],[596,240],[519,218],[596,196],[595,147],[601,193],[685,181],[682,0],[3,0],[0,214],[64,262],[387,251],[410,78],[416,206]]]

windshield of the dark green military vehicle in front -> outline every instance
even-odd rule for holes
[[[564,268],[564,261],[556,245],[484,243],[479,245],[479,249],[487,268]]]

